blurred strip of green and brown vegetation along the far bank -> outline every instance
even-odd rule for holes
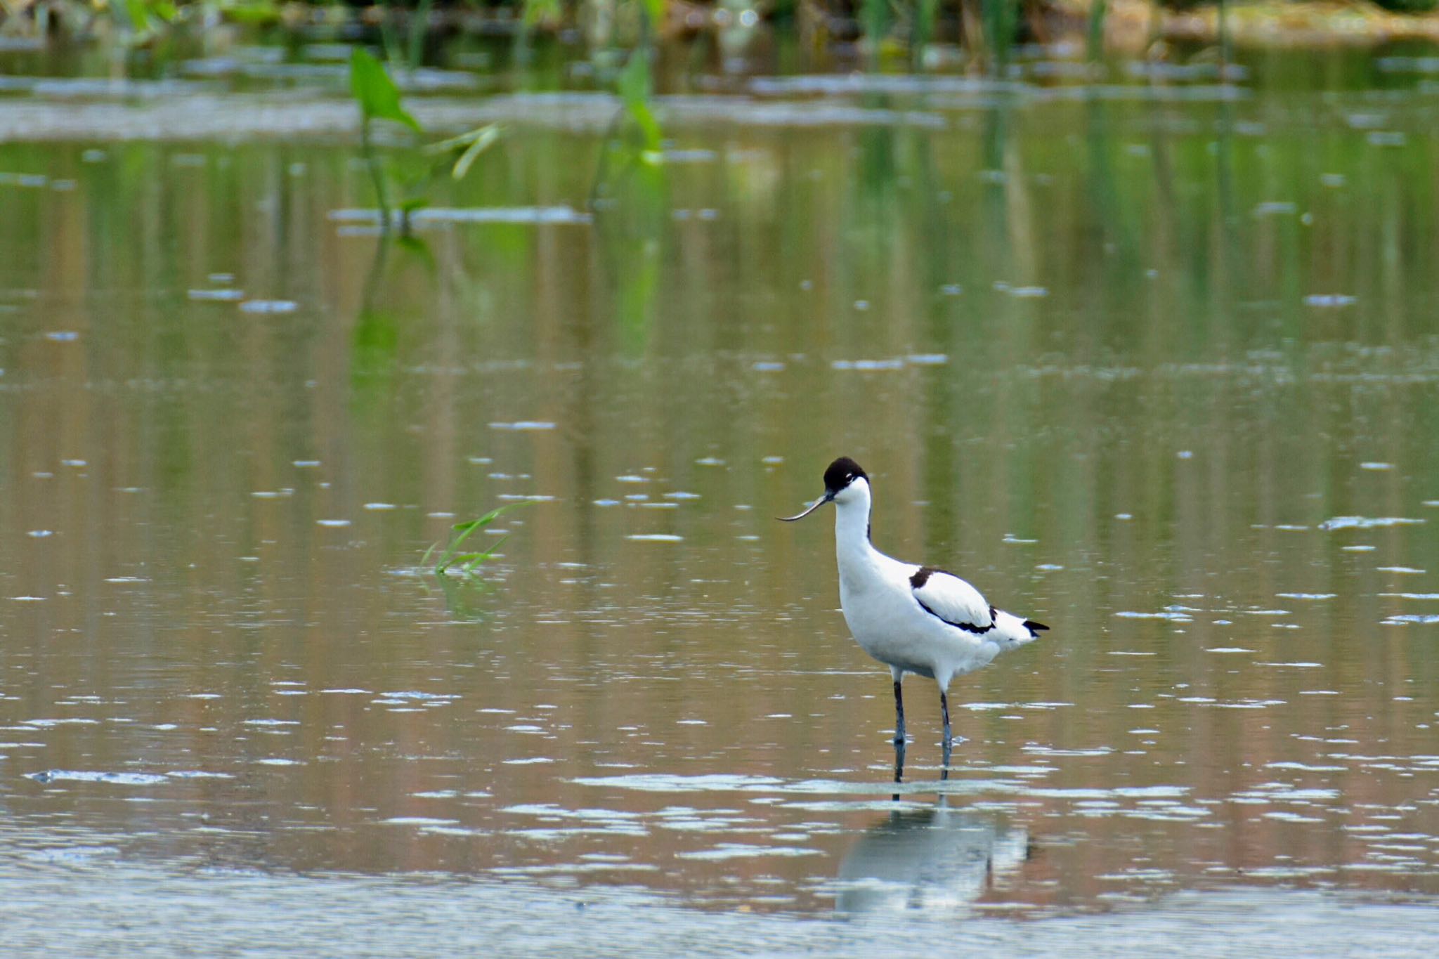
[[[1387,7],[1387,9],[1386,9]],[[650,24],[655,24],[650,27]],[[707,39],[721,53],[767,29],[802,49],[878,68],[993,69],[1020,45],[1061,56],[1163,59],[1168,45],[1324,49],[1439,43],[1439,0],[515,0],[304,4],[272,0],[0,0],[0,53],[65,45],[154,46],[239,29],[307,39],[381,40],[391,62],[420,62],[456,36],[509,37],[602,52]],[[875,39],[878,37],[878,40]],[[999,37],[993,42],[991,37]]]

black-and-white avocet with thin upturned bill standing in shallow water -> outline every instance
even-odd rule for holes
[[[799,516],[835,503],[839,605],[866,653],[889,667],[895,683],[895,742],[904,743],[905,673],[940,684],[944,753],[950,753],[950,680],[1039,637],[1049,627],[996,610],[980,591],[934,566],[892,559],[869,542],[869,476],[842,456],[825,470],[825,495]]]

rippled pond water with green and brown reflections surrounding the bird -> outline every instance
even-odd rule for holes
[[[0,145],[19,942],[121,884],[236,949],[285,947],[248,896],[403,901],[391,953],[586,903],[616,949],[1439,936],[1432,98],[774,81],[597,190],[612,109],[410,246],[328,134]],[[911,679],[892,782],[827,520],[771,519],[840,453],[876,545],[1053,627],[951,687],[943,779]]]

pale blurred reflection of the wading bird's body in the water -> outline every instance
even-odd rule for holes
[[[859,837],[839,864],[839,912],[964,907],[1030,858],[1023,828],[945,799],[895,809]]]

